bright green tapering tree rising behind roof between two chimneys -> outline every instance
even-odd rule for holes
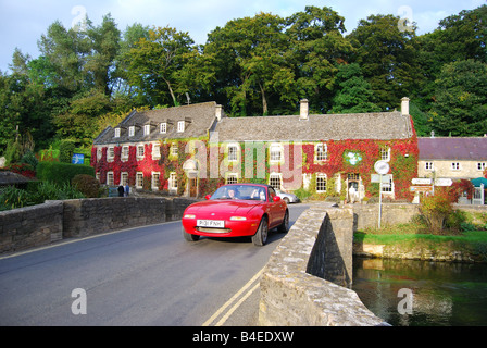
[[[340,65],[337,73],[338,91],[333,99],[332,113],[379,112],[374,92],[363,78],[360,65]]]

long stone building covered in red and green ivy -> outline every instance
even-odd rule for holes
[[[259,182],[361,200],[378,195],[378,160],[390,164],[383,194],[410,199],[417,138],[408,98],[379,113],[310,114],[307,100],[299,115],[228,117],[215,102],[134,111],[95,139],[91,164],[102,184],[191,197]]]

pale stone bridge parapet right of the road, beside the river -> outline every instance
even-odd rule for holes
[[[320,268],[323,270],[319,272],[323,274],[329,271],[325,265],[319,265],[319,261],[310,260],[316,258],[316,249],[327,250],[326,247],[317,248],[315,245],[329,240],[320,234],[332,233],[330,227],[337,231],[341,228],[338,225],[340,217],[344,216],[349,221],[347,228],[350,229],[350,234],[352,233],[352,211],[351,209],[341,211],[338,214],[338,210],[332,213],[337,219],[338,224],[336,224],[324,209],[309,209],[301,214],[287,236],[283,238],[262,274],[259,325],[385,325],[382,319],[375,316],[361,302],[353,290],[307,272],[309,269],[319,270]],[[335,231],[336,235],[337,231]],[[321,258],[326,259],[323,256]],[[340,266],[347,263],[342,261]]]

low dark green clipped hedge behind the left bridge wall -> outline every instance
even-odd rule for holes
[[[95,169],[90,165],[79,165],[62,162],[39,162],[37,178],[57,184],[70,184],[77,174],[95,176]]]

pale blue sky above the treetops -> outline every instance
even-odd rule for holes
[[[134,23],[171,26],[187,32],[196,44],[228,21],[259,12],[283,17],[304,11],[307,5],[329,7],[345,17],[351,33],[371,14],[394,14],[416,23],[416,34],[430,33],[440,20],[473,10],[486,0],[0,0],[0,71],[9,72],[15,48],[33,59],[39,57],[37,41],[49,25],[60,21],[70,28],[88,15],[95,25],[111,13],[121,32]]]

